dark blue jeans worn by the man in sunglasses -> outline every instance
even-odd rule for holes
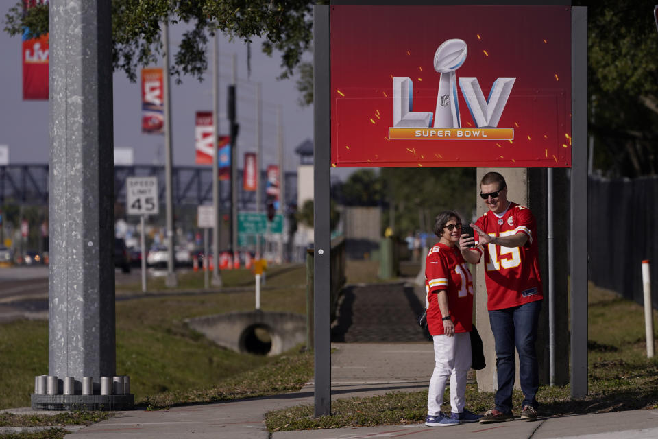
[[[494,401],[496,410],[509,413],[512,410],[512,390],[515,378],[515,353],[519,352],[519,381],[524,394],[522,407],[537,408],[539,370],[535,341],[537,321],[542,300],[518,307],[489,311],[491,331],[496,340],[496,368],[498,368],[498,391]]]

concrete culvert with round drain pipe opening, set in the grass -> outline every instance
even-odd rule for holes
[[[295,313],[232,312],[184,322],[219,346],[239,353],[278,355],[306,342],[306,316]]]

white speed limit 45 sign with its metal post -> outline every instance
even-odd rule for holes
[[[158,178],[128,177],[125,179],[125,204],[128,215],[140,215],[139,245],[142,252],[142,291],[146,292],[146,215],[158,215]]]

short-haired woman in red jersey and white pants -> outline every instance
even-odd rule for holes
[[[471,368],[473,279],[459,250],[461,219],[452,211],[437,215],[439,242],[427,254],[425,288],[427,326],[434,343],[435,367],[427,396],[428,427],[477,422],[482,416],[464,408],[466,375]],[[452,413],[441,413],[443,391],[450,379]]]

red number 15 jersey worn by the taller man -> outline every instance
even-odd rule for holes
[[[528,235],[522,247],[487,244],[484,251],[480,250],[485,255],[487,308],[511,308],[544,298],[539,277],[537,224],[530,209],[511,202],[502,215],[487,211],[475,224],[491,236]]]

